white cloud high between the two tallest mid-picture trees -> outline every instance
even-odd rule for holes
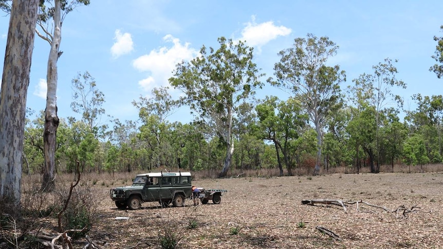
[[[286,36],[292,32],[290,28],[285,26],[275,26],[272,21],[257,24],[255,23],[255,16],[252,16],[252,21],[246,24],[242,30],[241,41],[251,47],[260,48],[269,41],[276,39],[278,36]]]

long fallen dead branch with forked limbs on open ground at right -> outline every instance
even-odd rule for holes
[[[412,206],[411,208],[407,208],[404,205],[400,205],[395,209],[389,209],[385,206],[379,206],[375,204],[368,203],[366,201],[360,200],[360,201],[342,201],[342,200],[335,200],[335,199],[312,199],[312,200],[302,200],[302,205],[311,205],[314,206],[314,204],[331,204],[331,205],[338,205],[343,207],[344,212],[347,212],[347,208],[345,204],[353,205],[356,204],[357,206],[357,212],[363,212],[363,213],[375,213],[373,211],[362,211],[359,209],[361,205],[359,204],[365,204],[370,207],[380,208],[383,209],[387,213],[395,213],[396,217],[399,218],[399,214],[402,214],[403,217],[408,218],[409,213],[417,213],[420,209],[419,206]]]

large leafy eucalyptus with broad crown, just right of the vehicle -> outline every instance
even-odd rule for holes
[[[210,47],[208,51],[202,46],[199,56],[178,64],[169,81],[185,94],[183,102],[196,112],[196,119],[224,142],[226,157],[219,175],[224,177],[234,153],[233,118],[238,106],[263,83],[259,81],[262,74],[252,61],[253,48],[225,37],[220,37],[218,43],[217,50]]]

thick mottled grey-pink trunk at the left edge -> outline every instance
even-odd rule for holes
[[[20,212],[26,98],[39,0],[15,0],[0,90],[0,199],[10,215]]]

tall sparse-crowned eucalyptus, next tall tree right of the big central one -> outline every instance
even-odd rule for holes
[[[275,63],[276,81],[272,85],[294,94],[309,114],[317,131],[317,159],[313,174],[319,173],[325,122],[331,109],[340,106],[340,83],[346,80],[339,65],[327,66],[327,60],[337,54],[339,46],[328,37],[308,34],[294,40],[293,47],[280,51]]]

